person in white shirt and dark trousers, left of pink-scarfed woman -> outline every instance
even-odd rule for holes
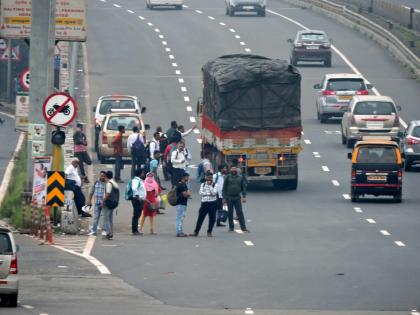
[[[141,169],[136,169],[134,177],[131,180],[131,189],[133,190],[133,199],[131,199],[131,205],[133,206],[131,232],[133,235],[142,235],[142,233],[139,232],[139,218],[142,215],[142,209],[146,200],[146,189],[140,178],[142,172]]]

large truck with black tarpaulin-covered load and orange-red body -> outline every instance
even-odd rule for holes
[[[287,61],[225,55],[202,67],[201,154],[236,165],[248,182],[297,189],[301,75]]]

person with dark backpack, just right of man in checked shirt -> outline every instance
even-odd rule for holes
[[[103,200],[104,229],[105,239],[112,240],[114,237],[114,210],[118,207],[120,200],[120,189],[113,179],[112,171],[106,172],[107,182],[105,185],[105,197]]]

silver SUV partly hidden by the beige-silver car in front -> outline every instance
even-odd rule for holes
[[[373,85],[355,73],[326,74],[321,83],[314,85],[318,90],[316,99],[317,118],[321,123],[329,118],[343,117],[354,95],[368,95]]]

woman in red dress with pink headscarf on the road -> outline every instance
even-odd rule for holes
[[[143,211],[140,217],[140,231],[143,232],[144,221],[146,217],[150,220],[150,234],[155,235],[155,216],[159,209],[159,193],[160,187],[155,180],[153,173],[147,173],[144,180],[144,187],[146,188],[146,202],[144,203]]]

